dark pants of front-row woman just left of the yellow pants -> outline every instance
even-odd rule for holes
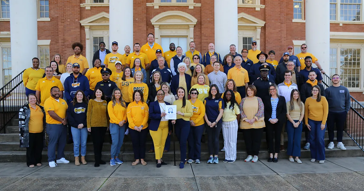
[[[140,132],[129,128],[129,135],[133,144],[134,159],[145,159],[145,141],[148,135],[148,128],[142,129]]]

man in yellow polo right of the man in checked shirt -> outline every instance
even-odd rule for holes
[[[248,87],[249,73],[241,67],[242,58],[240,56],[235,56],[234,63],[235,66],[227,72],[227,79],[233,79],[235,81],[237,91],[244,98],[245,88]]]

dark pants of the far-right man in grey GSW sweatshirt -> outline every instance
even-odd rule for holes
[[[329,133],[329,141],[334,142],[334,126],[336,123],[336,140],[337,142],[343,142],[343,130],[345,125],[347,112],[331,112],[327,116],[327,131]]]

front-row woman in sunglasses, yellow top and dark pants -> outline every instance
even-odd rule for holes
[[[208,85],[207,85],[208,87]],[[190,90],[191,99],[189,100],[192,105],[193,115],[190,118],[190,133],[188,135],[188,159],[187,163],[196,164],[201,160],[201,138],[205,130],[205,105],[198,99],[198,90],[192,88]]]

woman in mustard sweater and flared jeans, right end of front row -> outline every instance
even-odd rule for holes
[[[321,96],[320,87],[314,85],[311,89],[312,96],[305,102],[305,124],[310,130],[311,162],[319,160],[325,162],[325,129],[329,113],[329,104]]]

